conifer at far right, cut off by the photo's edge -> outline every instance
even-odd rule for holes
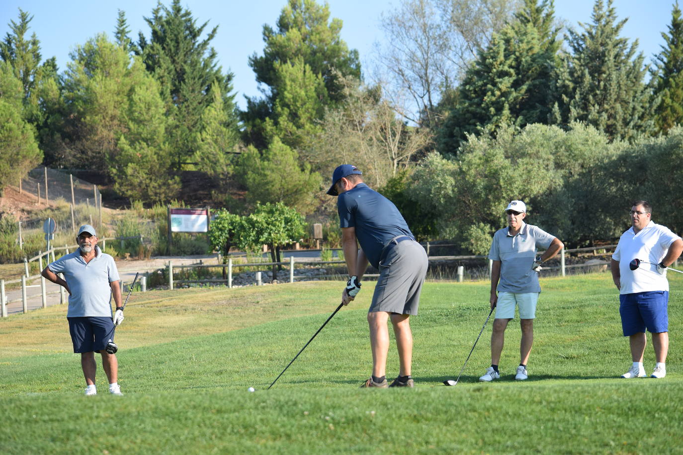
[[[666,46],[655,56],[653,70],[654,93],[660,96],[656,109],[656,124],[667,132],[683,123],[683,18],[678,1],[671,11],[669,33],[662,33]]]

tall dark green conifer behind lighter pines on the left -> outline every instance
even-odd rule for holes
[[[202,39],[208,22],[197,25],[191,11],[182,8],[180,0],[173,0],[169,8],[159,3],[145,21],[150,26],[150,39],[140,33],[135,52],[161,83],[173,123],[169,142],[175,148],[175,166],[180,168],[197,150],[201,115],[212,102],[210,93],[214,83],[221,91],[226,112],[234,111],[234,93],[229,94],[233,74],[223,74],[217,64],[216,50],[210,47],[218,27]]]

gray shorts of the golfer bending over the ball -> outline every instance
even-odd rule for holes
[[[413,240],[391,244],[387,248],[390,249],[380,261],[380,278],[368,312],[417,314],[420,291],[429,265],[427,253]]]

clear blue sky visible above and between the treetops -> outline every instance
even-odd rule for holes
[[[33,15],[31,32],[40,40],[44,58],[55,56],[59,69],[64,70],[69,53],[77,44],[85,43],[97,33],[106,32],[110,37],[116,26],[117,10],[124,10],[131,30],[131,38],[137,40],[137,32],[149,36],[149,28],[143,16],[150,16],[156,0],[0,0],[0,35],[9,31],[8,23],[18,17],[18,8]],[[170,0],[163,1],[165,5]],[[240,107],[245,106],[243,95],[257,96],[257,85],[247,59],[253,53],[262,54],[262,26],[275,26],[286,0],[186,0],[182,4],[191,10],[197,23],[208,20],[207,29],[219,25],[212,45],[217,50],[223,70],[234,73],[234,89]],[[320,2],[322,3],[322,2]],[[331,16],[344,21],[342,38],[350,48],[356,48],[361,63],[372,58],[372,44],[383,39],[379,29],[382,12],[398,5],[397,0],[329,0]],[[623,35],[638,38],[645,61],[658,53],[663,44],[661,32],[671,23],[672,0],[615,0],[619,18],[628,18]],[[555,0],[558,18],[568,25],[578,27],[579,22],[589,23],[593,0]]]

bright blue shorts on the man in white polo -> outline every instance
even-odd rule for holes
[[[637,292],[619,295],[624,336],[648,332],[669,332],[669,291]]]

